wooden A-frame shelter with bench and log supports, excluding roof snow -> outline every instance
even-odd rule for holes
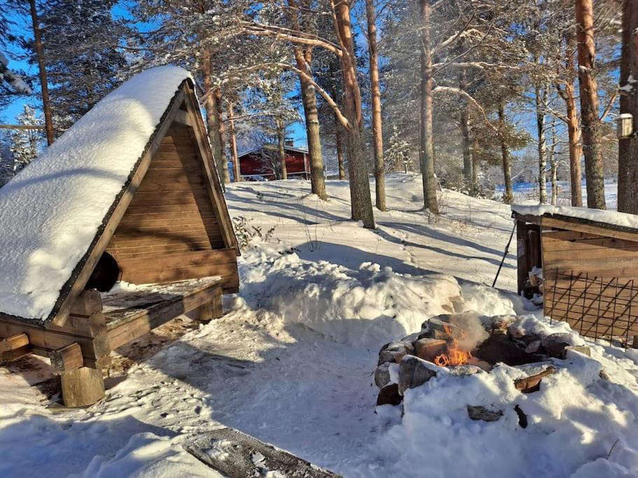
[[[67,406],[102,398],[112,350],[189,311],[219,317],[222,293],[239,289],[240,252],[194,88],[186,75],[48,316],[2,312],[0,299],[0,360],[48,356]],[[104,253],[121,281],[151,285],[87,290]]]

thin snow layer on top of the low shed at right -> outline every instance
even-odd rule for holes
[[[600,209],[572,206],[550,206],[548,204],[536,204],[533,206],[513,204],[512,211],[524,216],[564,216],[566,218],[599,223],[603,227],[608,225],[638,230],[638,216],[616,211],[602,211]]]

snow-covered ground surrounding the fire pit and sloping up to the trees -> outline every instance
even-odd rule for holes
[[[327,203],[306,181],[230,185],[231,216],[274,230],[240,259],[241,293],[225,297],[226,315],[201,326],[183,318],[120,349],[106,398],[85,411],[47,407],[46,360],[0,368],[0,476],[214,476],[180,443],[219,426],[347,477],[636,476],[638,353],[609,344],[557,360],[535,393],[515,390],[506,365],[441,372],[406,391],[403,416],[390,405],[375,414],[378,349],[429,316],[516,314],[521,327],[569,332],[525,316],[512,294],[515,244],[490,287],[513,226],[508,206],[445,190],[441,216],[429,218],[420,184],[387,178],[391,210],[375,211],[377,230],[347,220],[343,181],[328,181]],[[467,405],[504,416],[471,421]]]

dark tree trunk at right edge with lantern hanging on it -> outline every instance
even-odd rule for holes
[[[638,78],[638,2],[623,1],[623,45],[620,52],[620,87]],[[633,131],[638,126],[638,89],[635,85],[620,90],[620,113],[634,117]],[[618,141],[618,211],[638,214],[638,140],[634,137]]]

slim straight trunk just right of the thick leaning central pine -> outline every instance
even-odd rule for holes
[[[368,20],[368,53],[370,55],[370,96],[372,97],[372,132],[375,150],[375,192],[377,209],[385,211],[385,176],[383,167],[383,134],[381,124],[381,85],[379,81],[379,54],[377,52],[376,13],[373,0],[366,0]]]

